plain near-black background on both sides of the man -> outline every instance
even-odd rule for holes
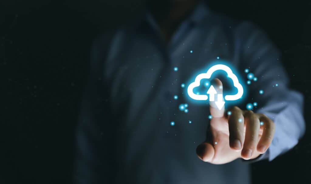
[[[251,20],[283,52],[291,87],[311,110],[311,2],[210,1]],[[92,40],[142,16],[146,1],[0,3],[0,183],[71,183],[74,128]],[[4,15],[5,14],[5,15]],[[253,183],[311,183],[310,118],[297,146],[252,165]]]

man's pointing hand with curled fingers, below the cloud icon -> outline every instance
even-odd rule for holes
[[[222,93],[221,81],[213,82],[217,93]],[[270,146],[275,131],[271,119],[236,106],[229,111],[231,115],[224,113],[225,107],[218,110],[215,102],[210,102],[212,119],[207,139],[197,147],[198,157],[205,162],[225,164],[237,158],[254,159]]]

